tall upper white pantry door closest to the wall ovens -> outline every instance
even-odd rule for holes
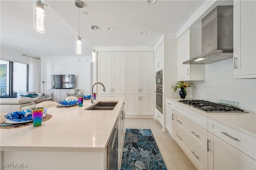
[[[154,94],[153,52],[140,52],[140,94]]]

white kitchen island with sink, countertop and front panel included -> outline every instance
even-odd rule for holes
[[[34,170],[106,169],[107,144],[124,97],[97,101],[118,103],[111,111],[84,110],[92,105],[90,100],[84,100],[83,107],[51,107],[47,113],[52,118],[40,127],[1,128],[1,169],[8,169],[2,163]]]

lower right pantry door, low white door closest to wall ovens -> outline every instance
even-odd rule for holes
[[[154,115],[154,95],[140,95],[140,115]]]

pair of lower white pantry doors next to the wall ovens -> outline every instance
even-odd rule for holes
[[[154,115],[154,95],[126,94],[126,115]]]

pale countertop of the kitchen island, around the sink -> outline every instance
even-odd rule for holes
[[[104,152],[124,97],[98,97],[97,101],[118,101],[112,111],[84,110],[83,107],[47,109],[52,115],[42,126],[0,129],[1,151]]]

